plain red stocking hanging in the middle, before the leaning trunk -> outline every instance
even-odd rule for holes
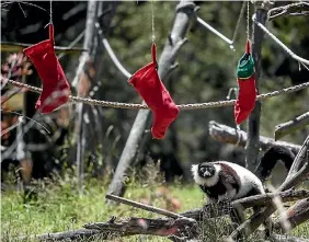
[[[139,69],[128,80],[152,112],[152,137],[162,139],[170,124],[176,118],[180,110],[157,72],[156,45],[151,46],[152,62]]]

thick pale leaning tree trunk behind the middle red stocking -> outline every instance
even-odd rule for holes
[[[185,34],[190,19],[194,16],[195,4],[193,1],[181,1],[176,7],[174,25],[159,60],[159,77],[167,81],[168,74],[175,61],[180,47],[185,43]],[[123,196],[125,193],[124,177],[128,175],[128,168],[136,158],[137,150],[142,140],[147,123],[150,118],[149,110],[140,110],[135,118],[128,139],[121,155],[118,165],[108,187],[108,193]]]

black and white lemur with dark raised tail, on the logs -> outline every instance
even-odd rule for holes
[[[248,169],[228,161],[194,164],[192,165],[192,174],[195,183],[210,201],[216,203],[225,198],[236,200],[264,194],[265,189],[262,182],[270,176],[277,161],[282,160],[286,170],[289,171],[295,157],[289,149],[274,146],[261,158],[254,174]],[[237,216],[239,220],[240,215]]]

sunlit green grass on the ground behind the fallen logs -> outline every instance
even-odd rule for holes
[[[106,187],[107,184],[103,181],[87,180],[83,194],[80,194],[75,178],[67,176],[57,178],[54,182],[45,181],[35,184],[36,191],[39,192],[38,197],[27,203],[23,203],[22,192],[2,192],[1,241],[13,241],[13,238],[21,235],[78,229],[89,222],[106,221],[112,216],[123,218],[158,217],[156,214],[126,205],[107,206],[105,204]],[[131,182],[125,197],[144,203],[148,200],[153,206],[170,209],[164,196],[159,194],[159,189],[162,189],[162,187],[165,187],[165,195],[168,194],[179,201],[180,208],[175,210],[176,212],[202,207],[203,203],[205,203],[205,198],[197,186],[184,186],[180,183],[164,185],[154,181],[148,184],[146,182],[144,184],[136,181]],[[308,224],[295,229],[293,233],[298,237],[309,238]],[[141,238],[141,241],[168,241],[163,238]],[[138,237],[133,237],[117,241],[137,240]]]

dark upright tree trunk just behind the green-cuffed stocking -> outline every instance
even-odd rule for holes
[[[255,5],[256,20],[265,24],[267,20],[267,10],[259,8],[258,3]],[[252,56],[254,59],[255,67],[255,84],[259,94],[259,79],[261,73],[261,50],[264,38],[264,32],[253,25],[253,42],[252,42]],[[254,110],[249,116],[248,120],[248,140],[245,143],[245,164],[250,171],[254,171],[259,162],[259,151],[260,151],[260,119],[261,119],[261,101],[256,101]]]

